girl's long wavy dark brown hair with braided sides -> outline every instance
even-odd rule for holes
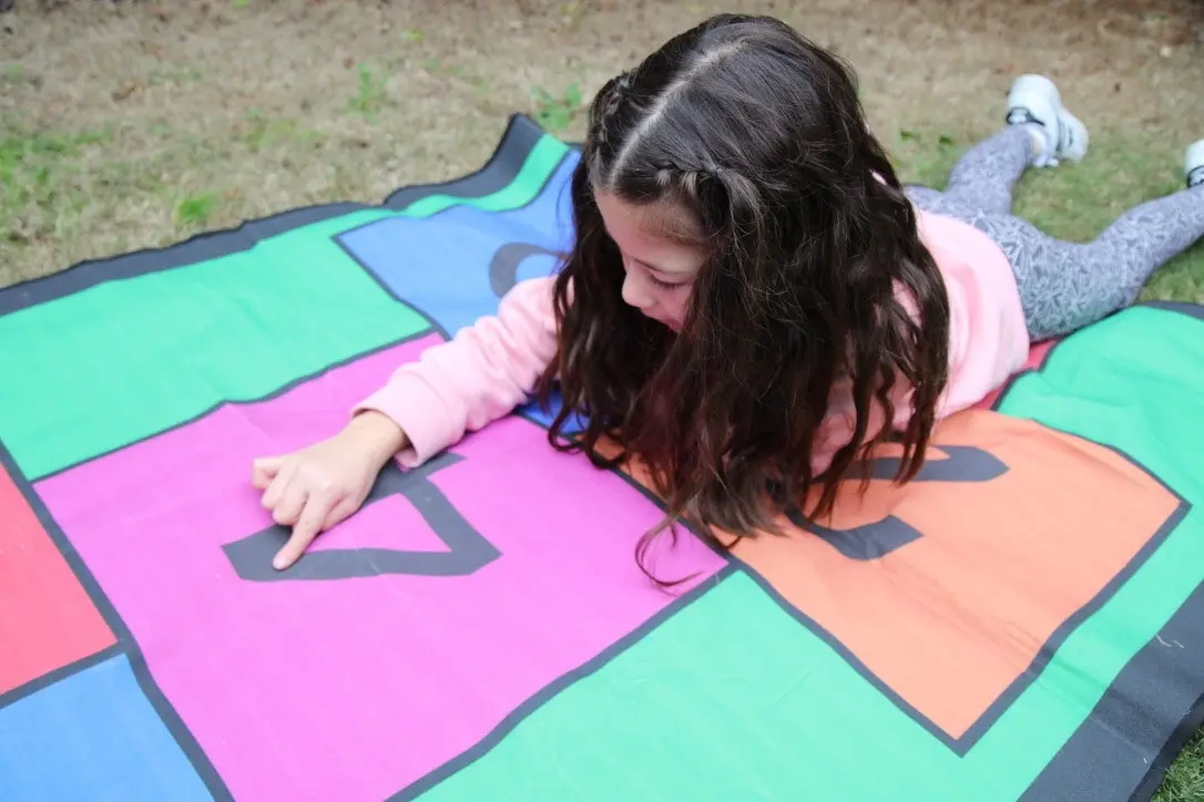
[[[710,256],[677,334],[624,303],[596,190],[697,220]],[[830,513],[886,440],[903,447],[899,481],[919,471],[946,382],[948,298],[842,60],[771,17],[712,17],[597,94],[572,201],[559,352],[541,382],[544,399],[557,384],[563,397],[556,447],[606,467],[637,457],[667,523],[737,537],[774,531],[811,495],[804,515]],[[854,432],[815,475],[838,382]],[[899,382],[905,428],[873,432],[874,405],[895,420]],[[574,411],[588,426],[567,440]],[[614,459],[595,452],[604,436]]]

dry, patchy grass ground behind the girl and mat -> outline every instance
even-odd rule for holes
[[[377,202],[478,167],[506,118],[579,136],[576,102],[719,2],[19,0],[0,17],[0,284],[283,208]],[[1013,76],[1097,141],[1204,131],[1198,4],[738,2],[857,67],[875,126],[967,142]],[[904,172],[910,170],[903,164]]]

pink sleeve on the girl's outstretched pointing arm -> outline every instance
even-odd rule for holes
[[[406,468],[508,415],[527,399],[555,356],[553,281],[549,277],[514,285],[496,315],[397,368],[353,411],[374,410],[401,427],[409,446],[397,459]]]

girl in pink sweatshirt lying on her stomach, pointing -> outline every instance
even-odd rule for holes
[[[904,190],[851,71],[767,17],[716,16],[595,97],[572,179],[576,243],[554,278],[402,366],[347,427],[254,464],[293,535],[273,565],[362,504],[390,459],[414,467],[556,384],[559,448],[609,435],[667,521],[737,536],[787,504],[831,511],[874,446],[915,475],[938,420],[1021,367],[1032,340],[1131,304],[1204,236],[1204,139],[1188,188],[1090,244],[1009,214],[1027,166],[1079,160],[1087,131],[1054,84],[1016,81],[1008,125],[943,192]],[[573,411],[588,428],[560,438]]]

